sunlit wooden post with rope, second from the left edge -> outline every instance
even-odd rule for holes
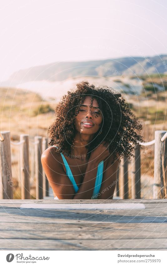
[[[23,142],[24,141],[24,142]],[[26,134],[20,135],[20,179],[22,200],[30,199],[30,173],[29,173],[29,138]]]

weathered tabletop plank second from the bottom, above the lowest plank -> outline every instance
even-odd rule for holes
[[[66,227],[52,226],[52,231],[50,230],[49,224],[45,225],[45,231],[40,231],[41,228],[37,227],[38,230],[33,229],[33,226],[26,230],[15,230],[11,228],[11,225],[3,226],[5,230],[0,230],[0,238],[25,238],[25,239],[145,239],[152,238],[164,238],[167,239],[167,228],[163,224],[161,226],[159,223],[150,225],[145,223],[144,226],[139,226],[132,224],[131,227],[126,227],[126,224],[119,224],[119,227],[114,228],[111,226],[105,227],[90,227],[89,224],[85,226],[84,224],[80,227],[76,225],[68,225]],[[19,227],[20,229],[20,227]]]

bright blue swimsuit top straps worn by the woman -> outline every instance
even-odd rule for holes
[[[55,145],[53,145],[53,146],[58,149],[57,146],[55,146]],[[71,172],[71,169],[70,169],[70,167],[68,165],[68,162],[65,159],[64,155],[62,153],[60,153],[60,154],[61,154],[61,156],[63,158],[63,163],[64,163],[65,168],[66,168],[66,175],[68,175],[71,183],[73,184],[75,193],[77,193],[79,188],[78,188],[78,185],[75,182],[75,179],[74,179],[73,174]],[[93,195],[92,195],[93,199],[97,198],[98,193],[100,191],[100,187],[101,187],[101,183],[102,183],[102,179],[103,179],[103,167],[104,167],[104,161],[101,161],[98,164],[97,176],[96,176],[95,185],[94,185],[94,191],[93,191]]]

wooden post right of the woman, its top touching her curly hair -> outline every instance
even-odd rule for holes
[[[140,199],[140,147],[135,146],[134,158],[131,161],[131,174],[132,174],[132,199]]]

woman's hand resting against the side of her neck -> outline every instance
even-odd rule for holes
[[[109,155],[109,143],[103,141],[96,149],[91,152],[89,162],[99,164]]]

